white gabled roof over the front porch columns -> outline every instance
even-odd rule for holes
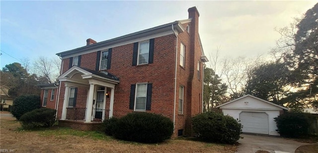
[[[105,83],[107,82],[111,84],[119,83],[119,79],[108,72],[97,72],[77,66],[73,66],[71,69],[59,76],[58,79],[60,81],[68,81],[79,84],[88,84],[91,81]]]

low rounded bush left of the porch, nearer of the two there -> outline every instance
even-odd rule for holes
[[[40,108],[23,114],[20,118],[23,129],[52,127],[55,123],[55,109]]]

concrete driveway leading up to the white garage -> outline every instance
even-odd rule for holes
[[[236,153],[255,153],[259,150],[270,153],[295,153],[299,146],[309,145],[274,136],[242,134],[241,137],[244,137],[244,139],[238,141],[240,145]]]

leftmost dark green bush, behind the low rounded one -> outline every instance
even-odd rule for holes
[[[12,105],[12,115],[16,119],[20,119],[20,117],[26,112],[32,111],[34,109],[38,109],[41,106],[40,96],[37,95],[21,95],[16,97],[13,100]]]

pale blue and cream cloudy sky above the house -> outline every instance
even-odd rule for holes
[[[207,56],[266,55],[279,34],[317,3],[311,1],[0,1],[0,68],[188,18],[200,12],[199,33]],[[10,56],[14,57],[10,57]],[[18,59],[18,60],[16,60]]]

